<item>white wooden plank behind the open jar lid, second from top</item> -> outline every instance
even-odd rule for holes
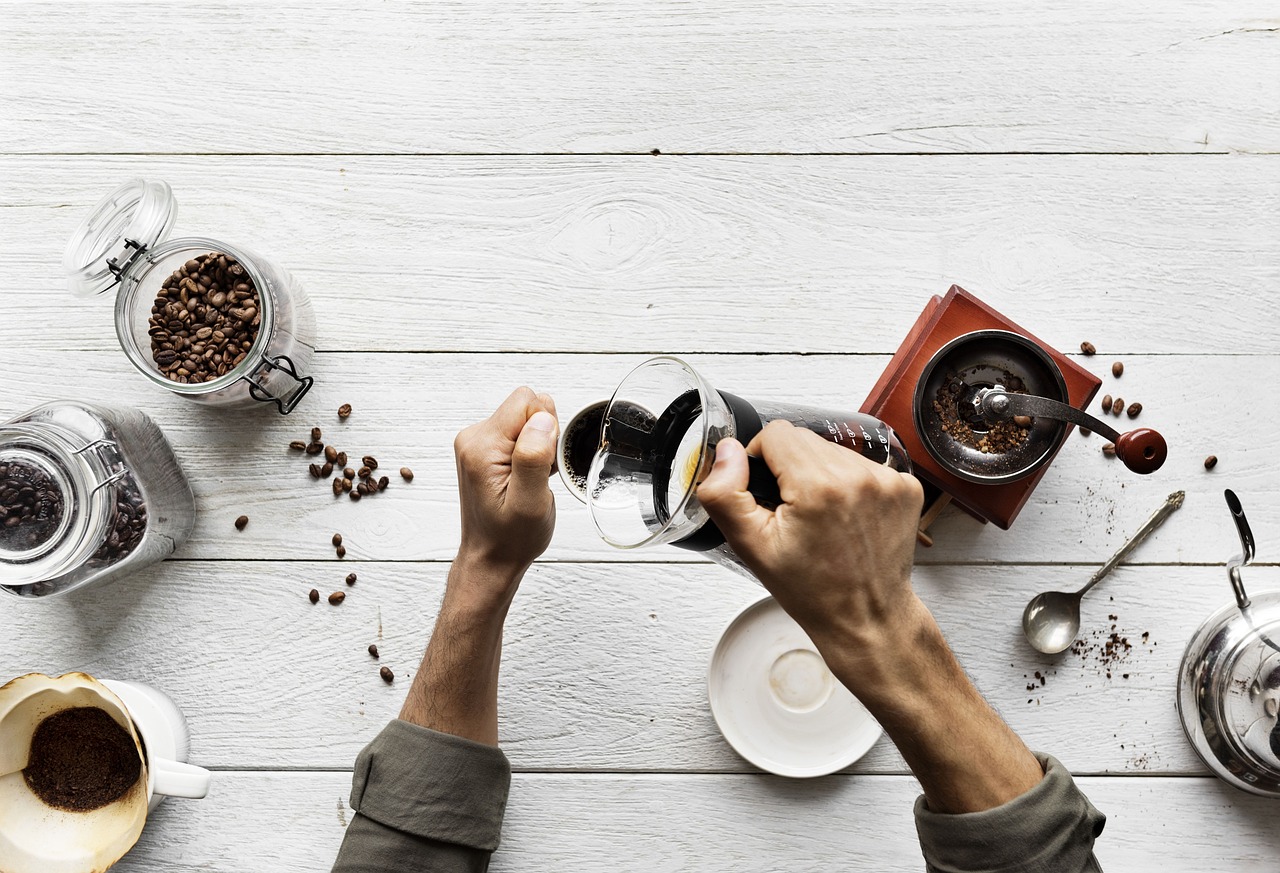
[[[892,353],[952,283],[1065,351],[1280,347],[1280,160],[1242,156],[0,157],[0,340],[114,347],[60,264],[133,175],[328,349]]]

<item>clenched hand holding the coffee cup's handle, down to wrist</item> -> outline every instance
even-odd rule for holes
[[[484,421],[453,440],[462,509],[460,559],[518,577],[547,550],[556,499],[547,477],[556,460],[556,402],[516,389]]]

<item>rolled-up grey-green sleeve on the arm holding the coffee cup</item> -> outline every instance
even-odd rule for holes
[[[485,870],[509,789],[497,746],[393,721],[356,758],[334,873]]]

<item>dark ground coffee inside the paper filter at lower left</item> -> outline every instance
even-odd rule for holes
[[[37,797],[73,813],[119,800],[141,773],[133,737],[97,707],[64,709],[40,722],[22,771]]]

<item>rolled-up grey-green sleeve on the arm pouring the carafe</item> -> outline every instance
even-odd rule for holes
[[[1106,815],[1050,755],[1036,755],[1044,778],[1025,794],[980,813],[947,815],[915,801],[929,873],[1100,873],[1093,841]]]

